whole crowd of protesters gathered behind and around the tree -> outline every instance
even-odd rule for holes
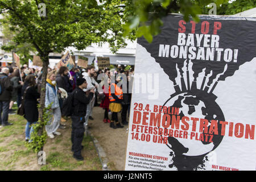
[[[73,94],[72,151],[74,158],[83,160],[81,142],[85,129],[90,128],[89,119],[94,119],[94,106],[102,107],[103,122],[109,123],[112,129],[122,128],[123,125],[128,124],[127,113],[129,113],[131,102],[129,82],[132,81],[132,74],[131,69],[125,71],[120,66],[117,70],[105,68],[97,72],[93,65],[88,65],[86,69],[73,68],[70,71],[67,67],[48,68],[45,106],[50,106],[48,112],[52,115],[45,127],[48,137],[53,139],[56,135],[61,135],[57,129],[65,129],[67,117],[63,117],[63,102]],[[101,75],[100,80],[98,80],[99,75]],[[123,92],[123,86],[126,84],[125,92]],[[24,118],[27,120],[25,140],[31,142],[32,124],[38,122],[39,118],[38,104],[41,85],[42,71],[38,68],[28,68],[26,64],[20,69],[11,66],[1,67],[0,127],[13,125],[8,121],[9,114],[17,113],[13,109],[14,104],[18,108],[23,105]],[[118,113],[121,113],[121,121],[118,120]]]

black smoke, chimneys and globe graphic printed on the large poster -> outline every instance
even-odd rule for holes
[[[216,103],[217,96],[213,94],[214,89],[217,86],[218,81],[224,81],[226,77],[233,76],[239,67],[253,60],[256,57],[256,42],[255,42],[255,30],[256,22],[249,20],[239,20],[237,18],[209,18],[209,16],[200,16],[201,22],[207,20],[209,27],[214,26],[214,22],[221,23],[221,29],[218,30],[217,35],[220,37],[220,48],[236,49],[236,61],[230,61],[227,63],[223,60],[223,54],[220,61],[216,60],[216,53],[214,53],[214,60],[189,60],[180,59],[179,56],[175,59],[172,57],[159,57],[159,45],[177,45],[179,21],[182,20],[182,16],[170,15],[163,19],[164,25],[162,32],[155,36],[152,43],[147,43],[145,39],[139,38],[138,44],[141,44],[146,48],[147,52],[155,58],[155,61],[159,63],[163,71],[168,75],[170,80],[174,83],[175,93],[171,93],[170,98],[163,104],[167,107],[188,107],[188,113],[180,111],[179,115],[182,118],[184,115],[189,116],[196,111],[196,106],[199,103],[203,103],[201,113],[205,119],[208,119],[209,123],[212,120],[218,121],[218,135],[213,135],[212,144],[213,147],[204,154],[188,156],[189,148],[179,142],[174,137],[168,137],[167,147],[171,149],[170,156],[172,156],[172,163],[170,168],[176,167],[177,170],[197,170],[205,169],[204,162],[208,160],[207,154],[215,150],[221,143],[223,136],[221,134],[220,121],[225,121],[224,113],[220,106]],[[188,35],[192,32],[192,26],[186,24],[186,31],[184,34]],[[200,23],[196,25],[194,34],[201,34]],[[208,34],[213,34],[213,28],[209,29]],[[189,70],[189,63],[192,64],[192,69]],[[187,68],[186,75],[184,76],[183,68]],[[193,78],[189,77],[189,73],[193,72]],[[201,85],[197,82],[199,73],[204,72],[204,78]],[[180,76],[180,81],[177,82],[177,76]],[[208,82],[206,81],[208,77]],[[192,81],[192,83],[191,83]],[[173,101],[174,100],[174,101]],[[172,105],[168,105],[168,102],[172,101]],[[209,130],[209,126],[208,126]],[[204,133],[204,131],[203,131]],[[204,136],[205,138],[205,136]],[[211,142],[201,141],[205,146]]]

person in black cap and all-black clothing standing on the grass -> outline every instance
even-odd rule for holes
[[[86,93],[83,89],[87,88],[87,82],[84,78],[77,78],[76,88],[73,91],[73,113],[71,142],[73,157],[77,160],[84,160],[81,155],[83,148],[82,139],[84,138],[84,122],[86,115],[86,105],[89,104],[93,98],[94,90],[88,90]]]

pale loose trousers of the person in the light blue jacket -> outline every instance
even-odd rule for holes
[[[54,119],[52,122],[52,118],[51,118],[46,125],[46,132],[48,135],[51,133],[55,133],[60,126],[60,119],[61,119],[60,107],[52,109],[51,115],[53,115]]]

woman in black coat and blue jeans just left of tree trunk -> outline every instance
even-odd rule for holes
[[[31,133],[33,129],[32,124],[38,122],[38,98],[40,94],[36,90],[36,82],[34,75],[28,75],[25,78],[24,85],[22,86],[22,96],[24,100],[24,118],[27,119],[27,125],[25,129],[26,141],[30,142]]]

